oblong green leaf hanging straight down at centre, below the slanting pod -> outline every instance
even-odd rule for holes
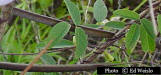
[[[87,35],[85,34],[82,28],[77,27],[75,29],[75,38],[76,38],[76,51],[75,57],[81,58],[85,55],[87,47]]]

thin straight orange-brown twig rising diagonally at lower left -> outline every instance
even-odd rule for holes
[[[45,48],[39,53],[38,56],[35,57],[35,59],[24,69],[23,72],[21,72],[20,75],[24,75],[28,70],[32,68],[32,66],[40,59],[40,57],[46,53],[47,49],[50,47],[53,40],[49,41],[49,43],[45,46]]]

